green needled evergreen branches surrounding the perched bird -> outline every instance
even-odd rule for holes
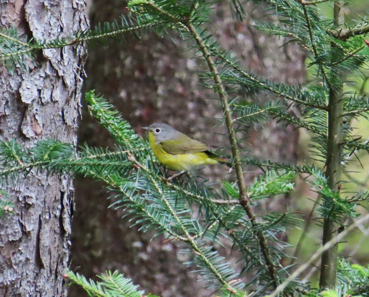
[[[244,2],[249,1],[230,1],[240,20],[245,17]],[[130,124],[103,97],[89,91],[85,96],[88,110],[115,140],[114,150],[85,145],[76,153],[70,144],[52,139],[39,141],[31,149],[14,141],[1,141],[1,186],[15,183],[30,170],[46,170],[49,174],[67,172],[104,182],[114,199],[111,207],[123,208],[131,216],[132,226],[138,225],[142,231],[155,230],[156,235],[162,234],[186,245],[182,252],[192,254],[186,265],[196,267],[205,285],[217,290],[217,296],[366,296],[361,289],[366,286],[363,280],[368,278],[368,269],[350,266],[342,260],[338,262],[337,256],[337,280],[335,271],[327,273],[323,265],[321,271],[320,289],[332,290],[324,293],[298,278],[290,280],[293,266],[282,265],[281,261],[290,257],[285,252],[290,245],[278,235],[301,226],[300,215],[289,211],[258,217],[251,205],[290,193],[296,175],[307,173],[311,186],[321,197],[316,214],[323,222],[323,244],[327,244],[322,263],[324,257],[334,255],[338,227],[345,218],[358,217],[357,206],[368,200],[367,192],[349,197],[339,190],[341,173],[352,154],[369,152],[368,141],[353,135],[351,126],[352,120],[359,116],[368,117],[368,96],[345,91],[350,76],[363,75],[362,66],[367,65],[369,48],[364,36],[369,32],[369,25],[365,19],[358,20],[352,27],[340,23],[342,3],[338,0],[251,2],[265,5],[267,12],[275,15],[273,23],[258,23],[256,28],[297,42],[307,51],[310,83],[287,86],[244,70],[232,52],[224,51],[208,33],[213,3],[204,0],[131,0],[127,7],[130,14],[122,16],[120,24],[104,24],[91,31],[76,32],[68,40],[20,41],[15,30],[0,32],[0,59],[10,69],[24,67],[24,61],[32,59],[39,49],[117,38],[125,32],[139,38],[154,30],[158,34],[178,34],[191,41],[196,57],[203,59],[209,69],[200,73],[203,84],[219,95],[223,107],[236,181],[223,181],[220,190],[191,174],[168,182],[167,172],[156,162],[147,142],[134,133]],[[334,19],[320,15],[315,4],[321,2],[334,5]],[[225,85],[232,92],[237,91],[239,97],[227,94]],[[266,92],[279,100],[250,103],[249,92]],[[249,155],[241,157],[238,142],[242,139],[236,137],[236,125],[242,131],[271,119],[281,125],[306,129],[311,135],[313,156],[321,162],[301,166],[256,160]],[[242,178],[245,165],[259,166],[265,175],[246,187]],[[4,209],[0,201],[0,215]],[[230,241],[241,253],[241,271],[236,271],[214,248],[213,242],[224,241]],[[334,278],[326,277],[326,273]],[[246,280],[246,274],[252,276],[251,279]],[[87,281],[73,273],[68,277],[84,287],[90,296],[143,294],[117,272],[101,276],[102,283]]]

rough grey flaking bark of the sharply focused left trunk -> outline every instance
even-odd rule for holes
[[[85,30],[83,1],[1,1],[0,27],[49,41]],[[76,145],[83,47],[37,53],[13,75],[0,66],[0,139],[32,147],[52,138]],[[0,295],[65,296],[74,189],[67,175],[31,170],[4,188],[15,214],[0,219]]]

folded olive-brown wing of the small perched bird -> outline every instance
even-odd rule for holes
[[[160,142],[162,149],[170,155],[182,153],[197,153],[207,151],[208,147],[203,142],[189,138],[187,135],[180,135],[176,139],[164,140]]]

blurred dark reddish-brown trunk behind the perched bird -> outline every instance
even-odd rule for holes
[[[91,26],[118,20],[120,14],[126,13],[124,2],[92,1]],[[214,39],[225,49],[232,49],[246,69],[254,70],[255,74],[276,82],[303,83],[304,55],[299,47],[288,44],[280,48],[286,40],[270,38],[252,28],[254,20],[267,18],[262,7],[251,9],[246,5],[248,15],[244,22],[239,22],[232,17],[229,2],[214,4],[214,22],[210,28]],[[113,103],[141,136],[144,136],[141,127],[165,122],[210,147],[229,146],[224,137],[226,128],[215,120],[222,118],[220,102],[216,94],[200,86],[197,72],[206,69],[199,65],[199,60],[190,59],[193,52],[189,52],[187,42],[174,37],[176,43],[173,43],[168,36],[155,34],[142,35],[141,41],[120,38],[121,43],[111,40],[108,47],[90,46],[86,90],[95,89]],[[233,95],[244,96],[241,93]],[[248,96],[248,100],[259,103],[270,99],[272,97],[265,93],[257,98],[252,94]],[[263,128],[250,127],[240,137],[245,139],[244,147],[251,149],[256,157],[290,163],[297,160],[299,134],[292,126],[285,128],[271,121]],[[106,147],[113,145],[109,139],[107,132],[85,112],[80,123],[79,143]],[[261,174],[257,168],[247,169],[250,171],[248,182]],[[218,165],[204,172],[207,176],[232,177],[227,169]],[[137,226],[130,228],[129,218],[121,219],[122,213],[107,208],[112,201],[106,199],[108,195],[101,184],[77,178],[76,193],[72,269],[81,266],[79,272],[87,277],[117,269],[139,284],[140,289],[160,296],[193,297],[194,292],[196,296],[212,293],[182,264],[187,259],[178,253],[181,244],[163,242],[163,236],[150,241],[152,233],[138,232]],[[273,198],[258,211],[283,211],[288,201],[286,196]],[[71,287],[70,297],[80,294],[79,288]]]

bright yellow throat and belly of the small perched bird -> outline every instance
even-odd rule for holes
[[[156,159],[162,163],[162,165],[175,171],[188,171],[199,165],[218,163],[217,159],[210,158],[205,152],[170,155],[163,151],[160,144],[155,144],[153,135],[149,135],[149,141]]]

